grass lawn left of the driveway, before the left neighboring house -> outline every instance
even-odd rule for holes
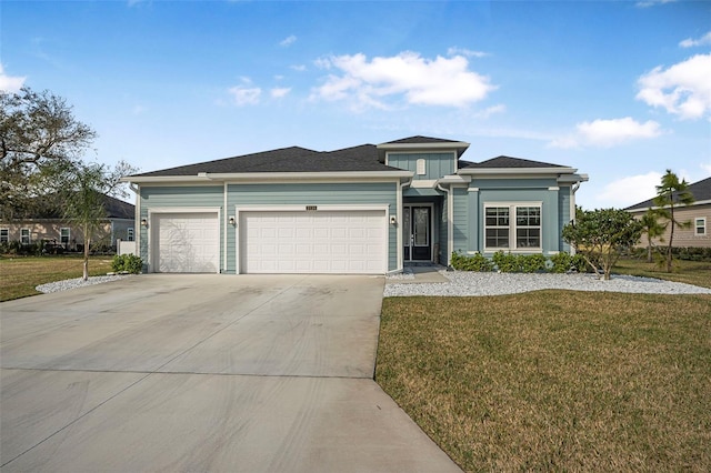
[[[48,282],[81,278],[83,256],[0,258],[0,301],[39,294],[36,286]],[[111,271],[111,256],[91,256],[89,275]]]

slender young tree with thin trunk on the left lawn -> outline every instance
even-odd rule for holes
[[[120,187],[123,175],[137,170],[121,161],[114,169],[104,164],[73,164],[63,173],[64,217],[76,222],[84,239],[83,280],[89,279],[89,246],[107,219],[107,195],[126,197]]]

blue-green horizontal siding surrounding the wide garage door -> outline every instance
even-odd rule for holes
[[[398,212],[395,182],[228,184],[227,214],[244,205],[388,205]],[[398,220],[400,215],[397,215]],[[388,224],[388,271],[398,269],[398,228]],[[237,231],[227,232],[227,272],[237,272]]]

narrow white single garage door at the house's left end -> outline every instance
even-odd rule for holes
[[[214,213],[157,213],[152,217],[157,272],[217,273],[220,225]]]

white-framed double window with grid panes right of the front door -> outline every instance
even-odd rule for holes
[[[542,248],[540,203],[484,204],[487,250],[540,250]]]

